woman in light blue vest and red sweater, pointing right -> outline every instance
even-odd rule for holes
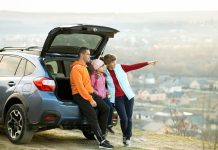
[[[112,54],[105,55],[103,59],[107,66],[105,74],[110,101],[115,103],[115,109],[120,117],[123,144],[124,146],[129,146],[132,136],[132,113],[135,94],[130,87],[126,73],[147,65],[155,65],[157,61],[148,61],[133,65],[117,64],[117,58]]]

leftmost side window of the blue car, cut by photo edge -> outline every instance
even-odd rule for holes
[[[20,57],[3,56],[0,62],[0,76],[14,76],[20,60]]]

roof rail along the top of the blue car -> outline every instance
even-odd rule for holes
[[[41,51],[41,48],[38,46],[31,47],[3,47],[0,49],[2,51]]]

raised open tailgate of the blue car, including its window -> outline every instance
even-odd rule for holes
[[[42,48],[41,57],[77,57],[80,47],[90,49],[91,57],[98,57],[116,29],[95,25],[63,26],[52,29]]]

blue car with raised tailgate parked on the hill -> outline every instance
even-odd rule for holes
[[[80,47],[90,49],[91,59],[98,58],[117,32],[97,25],[60,26],[48,33],[41,48],[0,50],[0,124],[12,143],[29,143],[35,132],[54,128],[80,129],[87,139],[94,139],[73,102],[70,64]],[[114,113],[114,124],[117,119]]]

